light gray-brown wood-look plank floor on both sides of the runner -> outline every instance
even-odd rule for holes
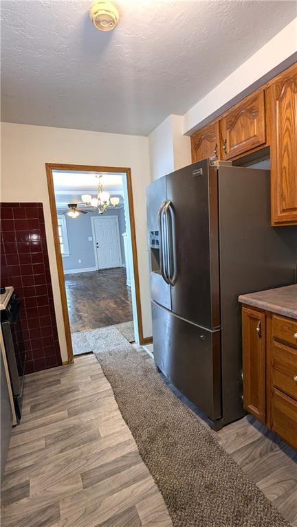
[[[250,416],[212,434],[297,527],[296,452]],[[26,377],[2,506],[3,527],[172,525],[94,355]]]

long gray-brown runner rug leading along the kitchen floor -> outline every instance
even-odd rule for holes
[[[174,527],[289,527],[133,346],[95,352]]]

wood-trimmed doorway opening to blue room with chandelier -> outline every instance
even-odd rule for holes
[[[130,170],[61,164],[46,170],[68,361],[93,351],[85,337],[93,346],[100,328],[117,328],[141,344]],[[94,177],[104,185],[96,187]]]

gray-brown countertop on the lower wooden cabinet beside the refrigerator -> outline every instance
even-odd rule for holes
[[[297,284],[240,295],[239,302],[297,319]]]

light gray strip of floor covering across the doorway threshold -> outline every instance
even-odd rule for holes
[[[133,322],[72,333],[74,355],[96,351],[106,352],[118,346],[126,347],[134,341]]]

